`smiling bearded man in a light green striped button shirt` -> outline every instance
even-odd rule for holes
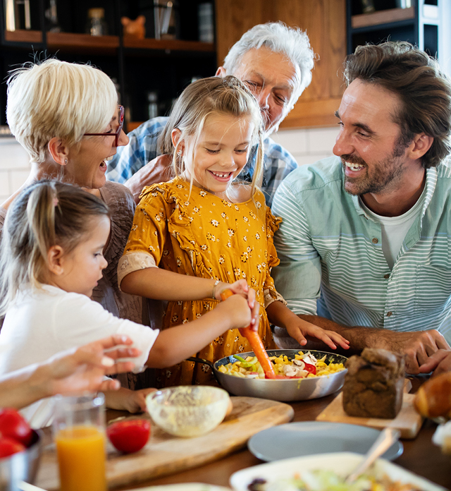
[[[337,157],[274,198],[273,277],[302,319],[430,371],[451,341],[451,85],[406,42],[357,47],[345,80]]]

